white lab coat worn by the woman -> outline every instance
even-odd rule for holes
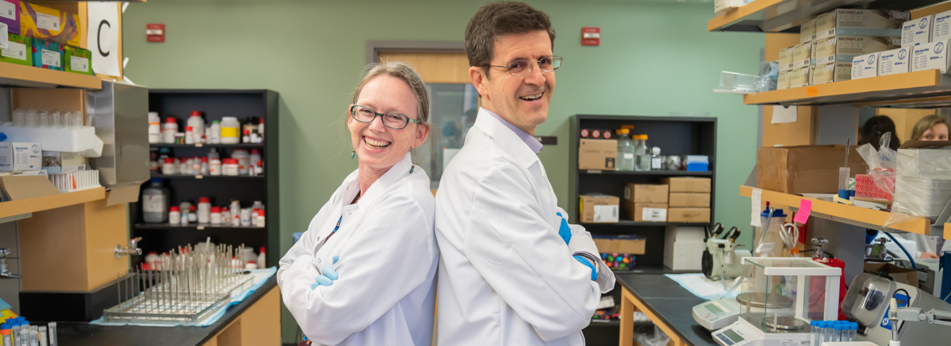
[[[318,345],[430,346],[438,249],[430,181],[407,154],[357,196],[350,173],[281,258],[284,305]],[[342,216],[340,229],[324,243]],[[337,264],[333,257],[340,256]],[[340,279],[310,285],[324,265]]]

